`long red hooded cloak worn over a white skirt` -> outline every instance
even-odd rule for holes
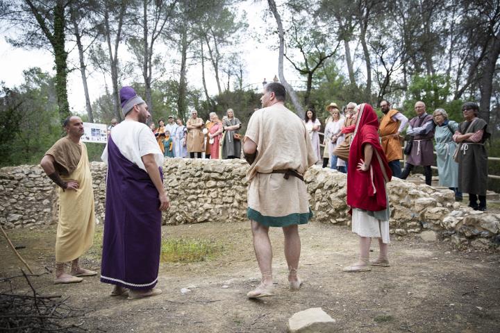
[[[365,144],[371,144],[374,153],[367,171],[359,171],[358,163],[365,161]],[[349,149],[347,171],[347,205],[377,212],[387,208],[385,182],[392,173],[378,141],[378,119],[369,104],[361,104],[356,130]]]

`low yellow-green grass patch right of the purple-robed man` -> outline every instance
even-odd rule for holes
[[[203,262],[217,257],[224,246],[208,239],[163,239],[162,262]]]

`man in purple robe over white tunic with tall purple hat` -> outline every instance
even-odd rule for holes
[[[163,153],[146,125],[151,114],[132,87],[120,90],[122,113],[102,160],[108,164],[101,282],[114,284],[111,296],[159,295],[162,210],[169,207],[163,189]]]

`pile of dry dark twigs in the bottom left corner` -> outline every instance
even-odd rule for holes
[[[10,293],[0,293],[0,332],[89,331],[82,327],[83,321],[74,324],[75,318],[85,316],[83,309],[71,307],[67,298],[61,299],[60,295],[38,295],[28,276],[22,273],[14,278],[24,276],[33,295],[15,294],[12,289]]]

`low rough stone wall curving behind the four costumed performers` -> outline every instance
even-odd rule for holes
[[[95,208],[104,221],[106,166],[92,162]],[[169,159],[165,188],[172,207],[165,224],[246,221],[247,164],[242,160]],[[314,220],[350,225],[345,202],[347,177],[331,169],[311,168],[305,175]],[[387,185],[394,237],[421,234],[457,246],[490,248],[500,242],[500,214],[477,212],[454,201],[453,192],[394,178]],[[39,166],[0,169],[0,224],[37,228],[57,223],[55,185]]]

